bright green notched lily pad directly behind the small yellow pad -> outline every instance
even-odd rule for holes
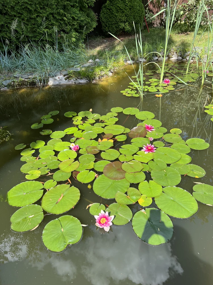
[[[146,195],[147,197],[157,197],[162,194],[162,186],[153,180],[141,182],[138,189],[142,195]]]

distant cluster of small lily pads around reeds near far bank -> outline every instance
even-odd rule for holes
[[[168,64],[166,69],[169,72],[165,72],[165,79],[162,83],[160,83],[160,73],[159,70],[153,68],[152,70],[147,70],[145,75],[147,77],[143,77],[143,91],[159,92],[159,93],[167,93],[169,91],[174,90],[174,85],[177,83],[183,82],[195,82],[200,76],[202,76],[202,70],[198,69],[195,66],[190,66],[189,72],[185,73],[185,64],[173,65]],[[174,75],[173,75],[174,74]],[[208,73],[208,76],[212,76],[212,72]],[[136,76],[132,76],[133,80]],[[182,81],[181,81],[182,80]],[[137,90],[139,84],[137,81],[130,82],[130,85],[125,90],[120,91],[123,95],[128,97],[139,97]]]

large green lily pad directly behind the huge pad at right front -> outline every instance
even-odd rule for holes
[[[167,167],[161,171],[152,170],[151,177],[154,182],[162,186],[175,186],[181,181],[179,172],[172,167]]]

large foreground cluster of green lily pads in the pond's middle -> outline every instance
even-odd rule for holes
[[[135,116],[140,122],[131,130],[118,125],[120,112]],[[115,107],[102,116],[91,111],[65,114],[72,118],[72,125],[64,131],[52,132],[46,143],[37,140],[28,148],[26,144],[15,147],[22,149],[24,164],[20,171],[27,181],[7,193],[9,205],[21,207],[11,216],[12,230],[34,230],[43,220],[44,211],[60,215],[74,208],[80,200],[80,191],[71,186],[71,177],[88,184],[98,196],[115,199],[110,204],[107,202],[107,208],[99,203],[90,204],[91,215],[110,212],[114,225],[125,225],[132,220],[136,235],[151,245],[167,243],[172,238],[169,216],[191,217],[198,210],[196,200],[213,204],[213,186],[197,184],[193,195],[177,187],[181,176],[205,175],[203,168],[190,164],[188,155],[191,149],[209,147],[203,139],[184,141],[180,129],[167,133],[153,113],[133,107]],[[128,143],[124,144],[126,140]],[[152,151],[146,153],[143,148],[150,143]],[[71,149],[73,144],[79,146],[74,148],[79,152]],[[45,183],[40,182],[41,177]],[[137,209],[142,207],[134,217],[128,207],[133,204]],[[76,217],[63,215],[45,225],[42,240],[49,250],[60,252],[78,243],[82,232],[82,224]]]

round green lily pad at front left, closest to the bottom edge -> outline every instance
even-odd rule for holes
[[[67,245],[78,243],[82,237],[82,225],[73,216],[65,215],[52,220],[43,229],[42,240],[49,250],[60,252]]]

